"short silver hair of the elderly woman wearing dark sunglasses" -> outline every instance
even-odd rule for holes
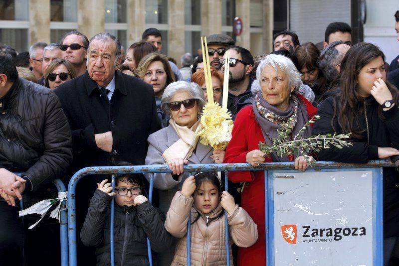
[[[172,98],[177,92],[187,92],[190,94],[190,99],[197,99],[198,108],[200,112],[202,112],[202,108],[205,106],[205,100],[200,86],[194,82],[176,81],[165,88],[164,95],[161,99],[161,108],[165,113],[165,117],[171,115],[171,110],[169,109],[168,104],[172,102]]]

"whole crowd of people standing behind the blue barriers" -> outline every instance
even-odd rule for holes
[[[399,32],[399,10],[395,19]],[[195,134],[208,101],[200,51],[196,57],[182,55],[179,69],[162,54],[156,28],[145,30],[126,53],[109,33],[89,40],[77,30],[59,43],[37,42],[28,53],[1,45],[0,265],[59,264],[58,224],[45,218],[27,230],[37,217],[22,223],[20,201],[23,195],[26,208],[56,198],[51,181],[67,184],[84,167],[166,164],[171,173],[154,174],[152,203],[147,175],[117,175],[115,190],[104,175],[82,179],[76,191],[79,265],[110,265],[110,230],[116,265],[149,265],[147,238],[155,265],[187,265],[189,219],[192,265],[264,265],[263,172],[230,172],[231,190],[224,191],[217,173],[190,175],[184,165],[292,161],[306,171],[312,160],[399,160],[399,56],[388,65],[376,45],[353,44],[344,22],[329,24],[317,44],[278,32],[273,47],[270,54],[252,55],[228,35],[207,36],[213,101],[222,104],[227,89],[234,120],[232,138],[220,150],[203,145]],[[223,88],[226,64],[228,88]],[[316,114],[320,120],[303,130]],[[259,150],[259,141],[271,145],[285,125],[292,128],[289,138],[351,133],[353,146],[307,157]],[[385,168],[384,243],[379,244],[385,266],[395,260],[398,228],[399,173]]]

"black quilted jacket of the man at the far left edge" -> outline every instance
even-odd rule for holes
[[[71,161],[71,131],[58,97],[16,80],[0,99],[0,167],[22,172],[32,184],[27,182],[25,192],[32,188],[37,195],[43,185],[63,177]]]

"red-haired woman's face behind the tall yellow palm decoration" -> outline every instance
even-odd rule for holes
[[[221,93],[223,92],[223,72],[210,67],[210,76],[212,78],[212,88],[213,88],[213,101],[215,103],[221,104]],[[208,102],[208,96],[206,95],[206,86],[205,86],[205,73],[203,68],[194,73],[191,76],[191,82],[197,83],[200,85],[203,96],[205,97],[205,102]]]

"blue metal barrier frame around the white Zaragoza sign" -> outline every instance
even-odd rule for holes
[[[324,170],[324,169],[336,169],[340,171],[340,169],[346,168],[371,168],[371,167],[392,167],[393,164],[391,161],[388,160],[377,160],[377,161],[370,161],[367,164],[354,164],[354,163],[338,163],[338,162],[325,162],[325,161],[318,161],[315,162],[312,167],[309,167],[309,170]],[[268,203],[268,171],[270,170],[292,170],[294,169],[293,162],[273,162],[273,163],[263,163],[260,166],[253,167],[248,163],[237,163],[237,164],[190,164],[185,165],[184,167],[185,172],[201,172],[201,171],[223,171],[226,173],[225,179],[227,180],[227,172],[228,171],[264,171],[265,172],[265,207],[269,205]],[[331,170],[330,170],[331,171]],[[76,185],[78,181],[86,176],[86,175],[93,175],[93,174],[128,174],[128,173],[171,173],[169,167],[167,165],[157,165],[157,166],[102,166],[102,167],[86,167],[78,172],[76,172],[69,184],[68,184],[68,240],[69,240],[69,263],[71,266],[77,265],[77,256],[76,256],[76,217],[75,217],[75,208],[76,208]],[[153,177],[153,175],[151,174]],[[152,178],[153,179],[153,178]],[[150,180],[150,191],[152,190],[152,181]],[[226,182],[227,184],[227,182]],[[382,196],[382,189],[379,191],[380,195]],[[152,192],[152,191],[151,191]],[[152,194],[152,193],[151,193]],[[382,203],[381,203],[382,204]],[[382,207],[382,205],[381,205]],[[271,249],[273,248],[273,238],[270,237],[270,224],[269,221],[271,219],[270,214],[268,214],[268,210],[265,212],[266,215],[266,264],[272,265],[271,263]],[[227,219],[227,216],[226,218]],[[190,219],[189,219],[190,222]],[[382,222],[382,221],[381,221]],[[228,245],[228,228],[227,228],[227,220],[226,220],[226,246]],[[382,223],[377,230],[381,230],[382,236]],[[190,229],[188,228],[188,238],[190,234]],[[112,230],[111,230],[112,231]],[[382,239],[381,239],[382,240]],[[381,243],[380,243],[381,245]],[[381,245],[382,246],[382,245]],[[188,247],[188,251],[190,251]],[[380,249],[382,251],[382,248]],[[380,256],[382,253],[378,252],[377,255]],[[226,255],[229,256],[229,248],[227,247]],[[149,260],[151,256],[149,255]],[[190,265],[191,261],[188,258],[188,263]],[[229,262],[229,257],[227,257],[227,261]]]

